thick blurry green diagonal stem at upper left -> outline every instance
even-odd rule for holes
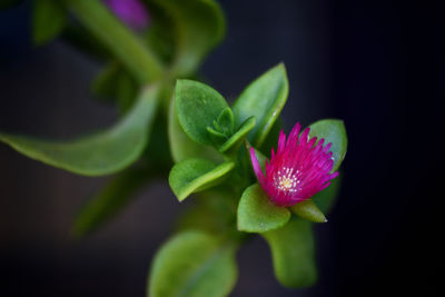
[[[140,83],[158,79],[162,66],[155,55],[99,0],[65,0],[68,9],[130,70]]]

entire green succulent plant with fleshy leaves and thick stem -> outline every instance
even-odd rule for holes
[[[310,138],[308,130],[300,135],[298,128],[289,136],[295,143],[286,145],[289,154],[283,155],[279,115],[289,89],[284,65],[255,79],[230,106],[219,92],[194,80],[225,34],[219,6],[212,0],[144,4],[152,23],[132,30],[98,0],[36,0],[34,42],[43,44],[60,36],[102,61],[92,92],[116,105],[121,117],[109,129],[71,141],[6,132],[0,140],[75,174],[116,174],[80,211],[73,227],[78,237],[115,216],[154,177],[168,175],[179,201],[195,196],[176,234],[155,256],[149,296],[226,296],[237,278],[236,251],[255,234],[268,242],[275,275],[284,286],[313,285],[317,274],[312,225],[326,220],[338,192],[335,171],[347,146],[343,121],[313,123]],[[277,155],[268,155],[277,145]],[[315,151],[318,155],[310,160],[296,157]],[[301,166],[307,172],[293,176],[291,169],[275,184],[270,170],[279,158],[289,167],[276,161],[276,168]],[[318,177],[316,187],[313,180]],[[307,188],[295,188],[297,181]],[[283,197],[295,199],[280,204],[281,194],[274,185],[286,191]]]

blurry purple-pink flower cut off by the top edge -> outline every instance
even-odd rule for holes
[[[141,30],[147,27],[147,9],[139,0],[103,0],[103,2],[131,29]]]

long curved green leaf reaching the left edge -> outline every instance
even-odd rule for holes
[[[0,133],[0,140],[29,158],[85,176],[117,172],[142,154],[158,107],[158,87],[145,89],[116,126],[72,141]]]

